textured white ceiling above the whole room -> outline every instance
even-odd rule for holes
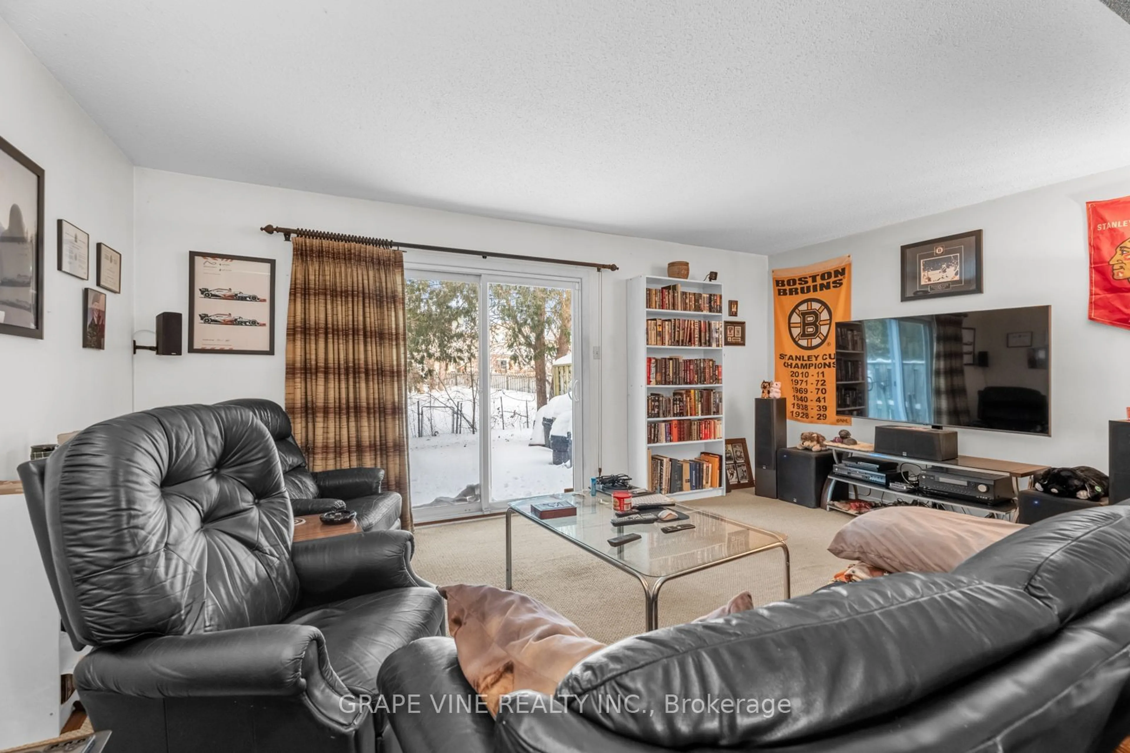
[[[0,0],[0,17],[138,165],[739,251],[1130,165],[1130,25],[1096,0]]]

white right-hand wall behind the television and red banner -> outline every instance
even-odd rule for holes
[[[774,255],[770,266],[851,254],[855,318],[1051,305],[1051,437],[963,429],[960,449],[1106,471],[1106,422],[1125,418],[1130,405],[1130,331],[1087,319],[1085,203],[1127,194],[1130,167]],[[899,246],[977,228],[984,229],[984,294],[899,303]],[[876,423],[859,419],[852,432],[870,439]],[[831,429],[790,422],[790,439],[809,428]]]

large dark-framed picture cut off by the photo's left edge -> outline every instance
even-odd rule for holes
[[[0,334],[43,339],[43,168],[3,139]]]

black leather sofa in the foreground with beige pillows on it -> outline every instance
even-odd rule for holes
[[[446,638],[392,654],[380,684],[473,698]],[[391,726],[405,753],[1109,753],[1130,734],[1130,507],[1049,518],[949,573],[628,638],[497,720],[466,708]]]

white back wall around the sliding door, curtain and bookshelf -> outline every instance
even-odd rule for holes
[[[626,463],[625,280],[637,274],[664,274],[667,263],[676,260],[689,261],[692,277],[696,279],[716,271],[727,286],[725,298],[739,301],[739,318],[748,322],[747,345],[725,353],[725,379],[732,385],[727,391],[727,429],[731,436],[753,436],[753,399],[759,394],[755,391],[759,389],[766,373],[768,353],[767,329],[759,321],[765,316],[768,289],[764,256],[153,169],[136,170],[134,192],[138,330],[151,330],[154,317],[163,310],[186,315],[189,251],[277,259],[276,299],[280,323],[276,330],[273,357],[138,353],[134,359],[134,405],[138,410],[253,395],[282,402],[286,352],[282,323],[289,289],[290,244],[279,235],[268,236],[259,230],[271,222],[375,235],[407,243],[618,264],[619,271],[600,273],[603,278],[603,321],[598,321],[600,306],[596,295],[585,310],[589,326],[599,338],[591,344],[599,344],[603,354],[594,362],[591,348],[584,352],[588,368],[600,374],[598,385],[603,392],[602,420],[594,426],[590,417],[588,426],[590,437],[594,436],[592,431],[601,432],[605,472],[618,472]],[[473,256],[406,255],[406,261],[414,260],[464,263],[475,268],[498,264]],[[546,273],[575,273],[575,268],[547,265],[540,269]],[[590,278],[594,279],[596,274]],[[151,335],[145,336],[150,338],[145,342],[151,342]],[[589,395],[586,405],[592,408],[599,402],[600,395]],[[586,466],[592,470],[598,462],[594,455],[590,453],[586,457]]]

